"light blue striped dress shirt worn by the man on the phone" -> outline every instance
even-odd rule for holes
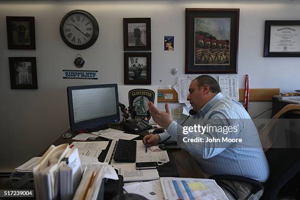
[[[173,121],[167,128],[167,133],[161,133],[160,141],[164,141],[170,135],[171,140],[189,151],[200,165],[201,170],[207,175],[240,175],[265,182],[270,171],[269,165],[261,147],[257,129],[249,114],[241,103],[224,97],[218,93],[200,109],[196,115],[191,116],[183,125],[213,125],[212,120],[219,120],[218,125],[233,125],[232,122],[222,119],[242,119],[239,121],[239,129],[236,134],[231,134],[229,138],[240,138],[242,143],[184,143],[183,138],[216,137],[205,132],[189,132],[183,134],[183,126]],[[178,133],[178,134],[177,134]],[[229,134],[228,134],[229,135]]]

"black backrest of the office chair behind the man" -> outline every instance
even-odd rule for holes
[[[300,119],[300,113],[291,110],[282,114],[280,118]],[[266,157],[270,166],[270,177],[261,199],[275,200],[283,185],[300,171],[300,148],[270,148]]]

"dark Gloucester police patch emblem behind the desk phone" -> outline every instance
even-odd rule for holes
[[[148,103],[151,101],[154,103],[155,93],[152,90],[148,89],[133,89],[128,93],[128,100],[130,106],[135,106],[131,115],[133,119],[142,119],[146,117],[150,120],[150,112]]]

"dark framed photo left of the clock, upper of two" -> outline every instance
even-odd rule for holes
[[[34,17],[6,17],[9,50],[35,50]]]

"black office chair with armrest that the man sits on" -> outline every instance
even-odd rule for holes
[[[299,110],[289,110],[281,114],[279,118],[300,119]],[[286,132],[288,135],[290,133],[291,131]],[[237,200],[239,200],[237,194],[232,188],[222,182],[222,180],[236,180],[249,183],[253,189],[247,199],[250,199],[252,195],[264,188],[261,200],[276,200],[279,190],[300,172],[300,149],[293,146],[290,146],[290,148],[270,148],[265,154],[270,166],[270,177],[264,184],[257,180],[238,175],[213,175],[209,178],[214,179],[219,186],[225,188]]]

